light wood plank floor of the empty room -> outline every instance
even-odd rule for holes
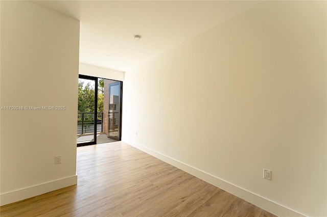
[[[122,142],[77,148],[77,174],[1,216],[275,216]]]

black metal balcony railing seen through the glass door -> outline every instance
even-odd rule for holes
[[[94,133],[94,113],[79,112],[77,114],[77,134]],[[97,132],[103,132],[103,112],[97,113]]]

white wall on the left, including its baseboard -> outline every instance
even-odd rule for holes
[[[77,183],[78,67],[78,20],[1,1],[1,106],[66,107],[1,111],[1,205]]]

